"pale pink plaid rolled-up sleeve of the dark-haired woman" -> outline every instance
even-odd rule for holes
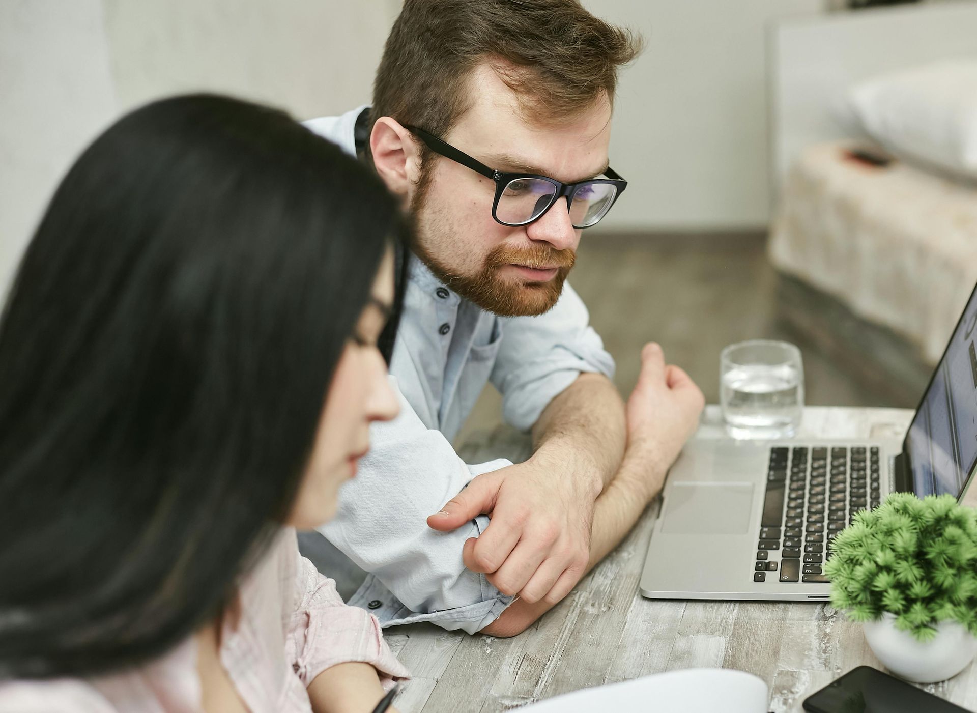
[[[301,593],[286,635],[286,656],[308,687],[325,669],[353,661],[377,670],[387,688],[408,677],[383,640],[380,622],[368,611],[343,603],[331,579],[298,554],[296,591]]]

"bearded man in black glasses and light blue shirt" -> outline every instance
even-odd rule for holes
[[[370,161],[417,229],[391,360],[402,414],[371,431],[321,529],[368,572],[350,603],[385,626],[523,631],[616,546],[695,429],[701,392],[657,345],[625,417],[565,283],[624,189],[611,113],[637,51],[575,0],[406,0],[372,108],[307,122]],[[451,447],[489,380],[532,431],[525,463]]]

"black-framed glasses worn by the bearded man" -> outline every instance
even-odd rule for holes
[[[488,168],[481,161],[423,129],[407,124],[404,124],[404,129],[415,134],[435,153],[494,181],[495,200],[491,206],[491,217],[503,226],[528,226],[542,218],[557,200],[566,198],[573,228],[590,228],[608,214],[617,196],[627,188],[627,181],[610,167],[604,172],[609,177],[607,179],[590,179],[575,184],[565,184],[531,173],[503,173]]]

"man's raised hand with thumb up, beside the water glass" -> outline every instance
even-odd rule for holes
[[[646,477],[630,479],[650,500],[664,482],[665,474],[686,440],[695,433],[705,399],[685,371],[665,364],[654,342],[641,350],[641,373],[627,399],[627,446],[624,458],[639,468],[628,474]]]

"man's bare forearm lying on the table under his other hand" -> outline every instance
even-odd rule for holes
[[[635,475],[638,473],[636,469],[647,472],[650,467],[659,472],[656,478]],[[647,458],[624,458],[615,479],[597,498],[590,538],[590,558],[587,562],[588,572],[607,557],[638,522],[645,507],[661,490],[666,472],[666,466],[650,466]],[[549,604],[545,600],[535,604],[517,600],[484,628],[482,633],[499,637],[515,636],[554,606],[555,604]]]

